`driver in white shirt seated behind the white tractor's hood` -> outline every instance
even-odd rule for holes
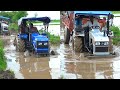
[[[86,24],[82,25],[82,27],[93,27],[93,26],[99,26],[100,27],[100,24],[99,22],[93,17],[93,16],[90,16],[90,21],[88,21]]]

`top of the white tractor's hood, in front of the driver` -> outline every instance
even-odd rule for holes
[[[92,37],[94,41],[109,41],[108,36],[104,36],[104,32],[100,32],[99,29],[90,31],[90,37]]]

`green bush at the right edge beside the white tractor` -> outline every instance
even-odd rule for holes
[[[120,29],[116,26],[110,27],[110,30],[114,33],[113,44],[120,45]]]

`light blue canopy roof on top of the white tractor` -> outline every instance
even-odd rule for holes
[[[74,14],[80,15],[109,15],[111,11],[74,11]]]

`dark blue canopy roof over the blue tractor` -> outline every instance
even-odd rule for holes
[[[31,17],[31,18],[22,17],[18,20],[18,25],[20,25],[24,21],[42,21],[45,23],[50,23],[51,20],[49,17]]]

